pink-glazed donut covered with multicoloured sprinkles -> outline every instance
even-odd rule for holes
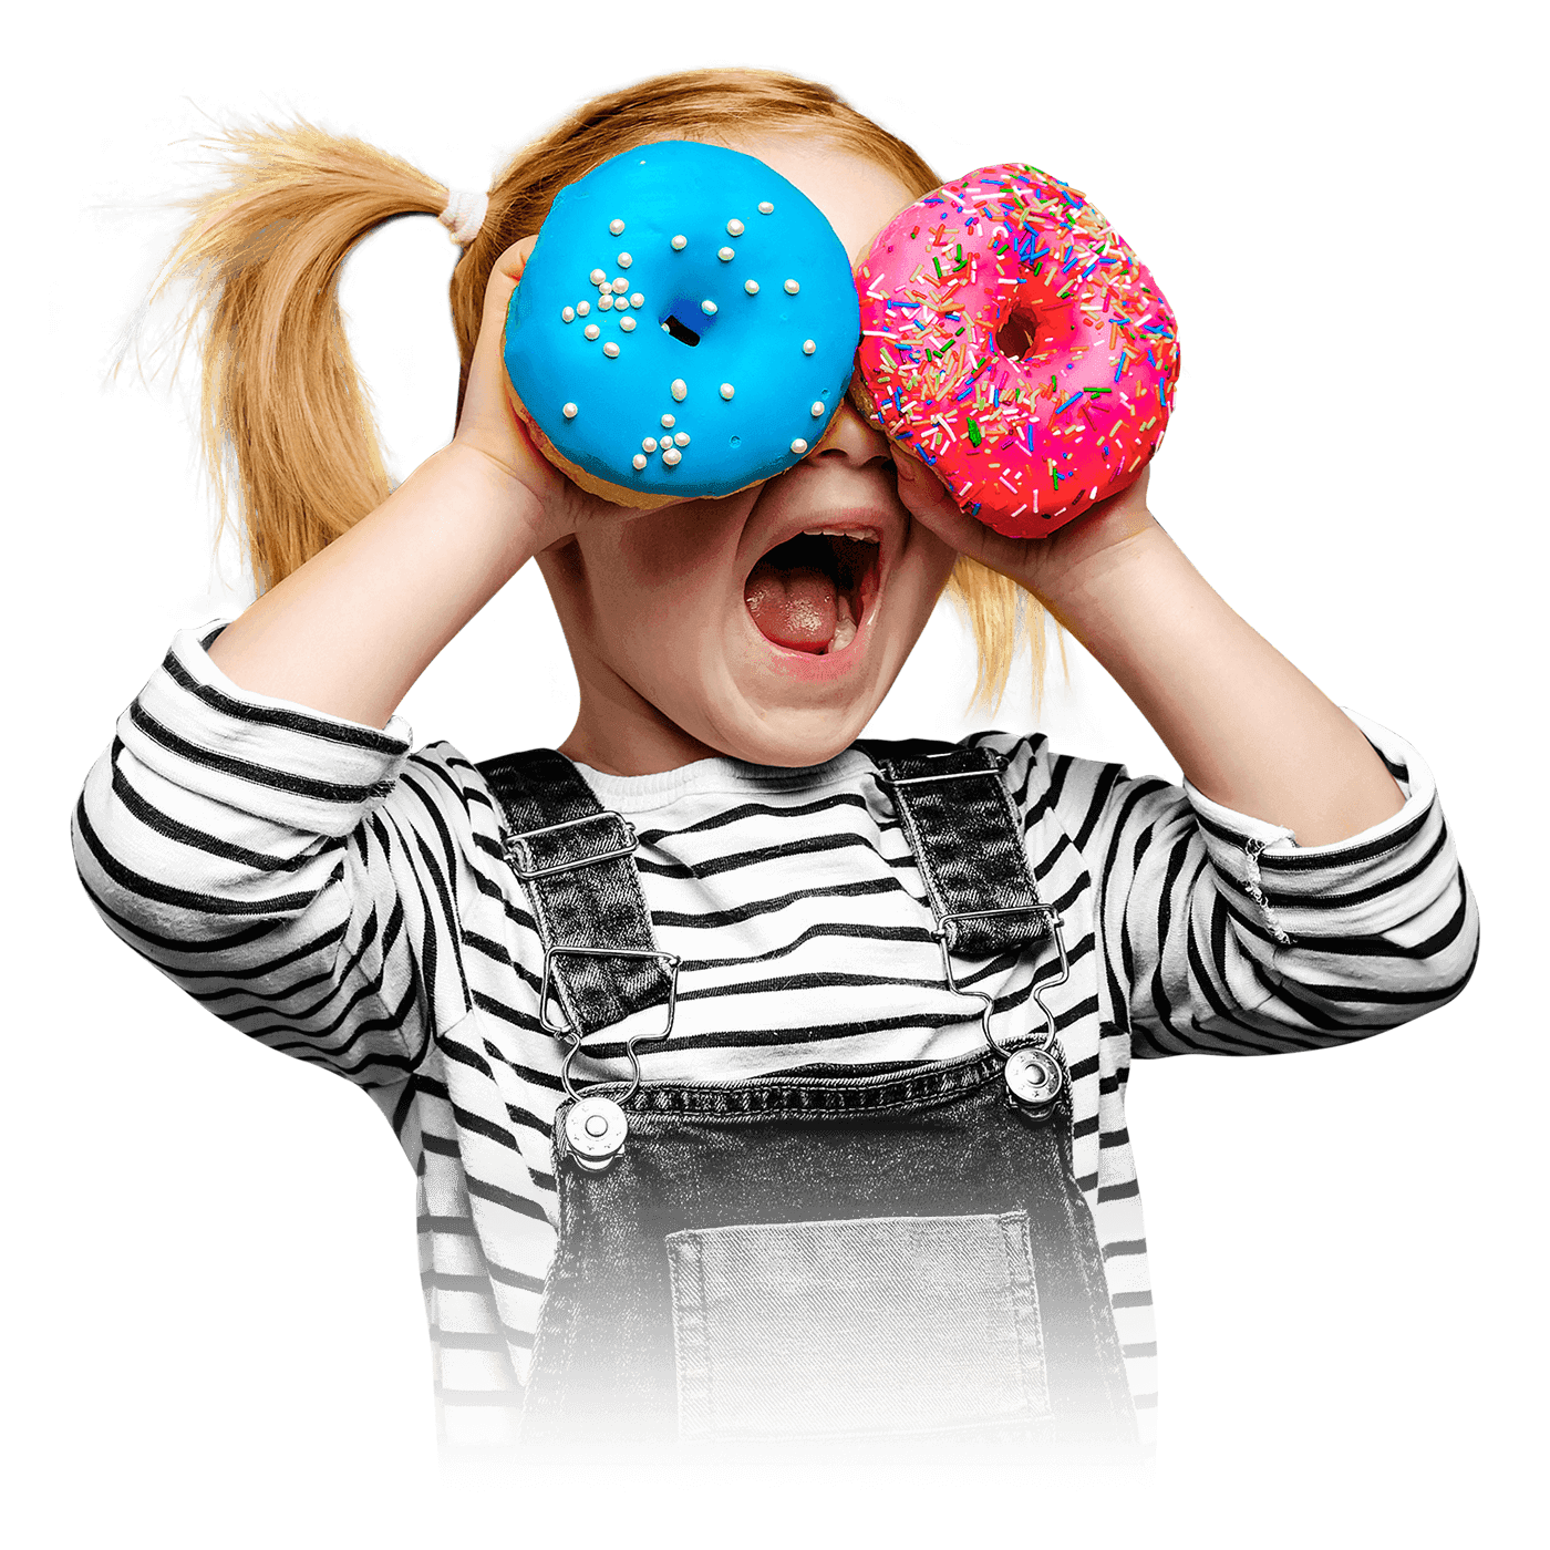
[[[884,429],[998,533],[1038,538],[1161,446],[1178,324],[1085,194],[981,167],[897,215],[862,262],[860,369]]]

